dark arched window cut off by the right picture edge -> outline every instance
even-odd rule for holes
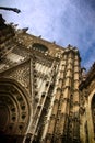
[[[94,134],[95,134],[95,94],[92,99],[92,118],[93,118],[93,128],[94,128]]]

